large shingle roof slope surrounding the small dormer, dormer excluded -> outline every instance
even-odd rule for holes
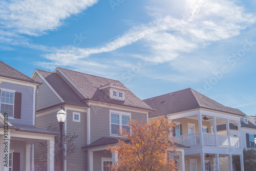
[[[94,100],[153,111],[150,106],[139,99],[118,80],[94,76],[63,68],[57,68],[56,70],[60,70],[63,74],[65,74],[72,81],[72,83],[87,97],[82,99],[83,101]],[[111,99],[108,95],[105,94],[104,91],[100,90],[100,88],[109,84],[115,87],[127,89],[127,91],[124,92],[125,99]]]

